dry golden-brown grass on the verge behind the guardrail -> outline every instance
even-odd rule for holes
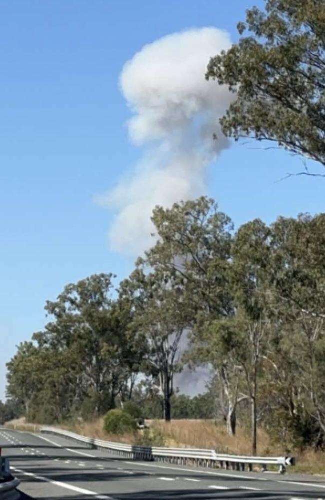
[[[251,454],[249,430],[240,427],[237,435],[231,437],[227,435],[224,426],[215,425],[210,420],[173,420],[170,423],[154,420],[150,421],[149,425],[150,429],[146,431],[147,436],[149,435],[157,445],[212,448],[220,453]],[[38,429],[37,425],[26,423],[24,419],[8,422],[6,427],[33,432]],[[141,443],[143,439],[142,431],[119,436],[107,434],[103,430],[102,418],[92,422],[66,422],[57,427],[111,441]],[[287,450],[281,444],[274,443],[267,432],[263,429],[258,430],[258,455],[283,456],[287,454]],[[295,467],[289,467],[288,472],[325,475],[325,453],[314,452],[311,449],[304,451],[293,449],[290,454],[297,458],[297,464]]]

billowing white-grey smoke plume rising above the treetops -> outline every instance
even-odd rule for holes
[[[109,231],[113,250],[142,253],[153,243],[155,205],[170,207],[206,193],[206,167],[228,146],[218,117],[231,94],[204,74],[209,58],[229,45],[225,31],[190,29],[145,45],[126,62],[120,83],[134,114],[129,135],[144,151],[132,174],[96,198],[116,210]]]

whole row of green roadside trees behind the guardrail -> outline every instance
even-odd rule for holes
[[[175,374],[204,364],[213,383],[199,416],[223,418],[235,434],[237,415],[249,415],[253,453],[257,425],[322,447],[325,215],[234,231],[201,197],[156,207],[152,221],[155,244],[118,288],[113,274],[96,274],[46,303],[44,330],[7,365],[8,396],[34,421],[89,418],[127,401],[150,401],[170,420],[172,405],[180,416],[190,407]]]

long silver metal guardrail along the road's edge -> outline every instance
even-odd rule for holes
[[[267,471],[269,465],[279,467],[279,472],[284,473],[288,465],[295,465],[295,459],[288,456],[262,457],[262,456],[236,456],[216,453],[213,449],[200,448],[162,448],[154,446],[137,446],[133,444],[103,441],[93,437],[85,437],[68,430],[56,427],[40,427],[41,432],[57,434],[78,442],[83,442],[90,447],[110,450],[122,456],[135,460],[165,461],[177,465],[194,464],[203,467],[221,467],[226,470],[244,471],[247,467],[250,472],[254,465],[261,465],[263,471]]]

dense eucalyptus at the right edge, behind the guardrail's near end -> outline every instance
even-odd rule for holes
[[[325,215],[280,217],[271,230],[275,313],[281,323],[272,366],[277,377],[288,368],[282,380],[285,387],[291,379],[283,398],[289,421],[298,431],[303,421],[313,421],[319,443],[325,439]]]

